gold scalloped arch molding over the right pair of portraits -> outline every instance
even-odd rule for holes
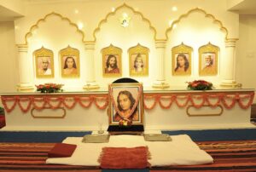
[[[166,39],[168,40],[168,32],[172,31],[172,28],[174,25],[176,25],[177,23],[179,23],[183,18],[188,17],[189,14],[192,14],[194,12],[200,12],[205,14],[206,18],[211,18],[213,20],[214,23],[217,23],[218,26],[220,26],[220,30],[223,31],[225,33],[225,40],[228,39],[228,29],[223,25],[223,23],[220,20],[217,20],[216,17],[212,14],[208,14],[204,9],[199,9],[199,8],[195,8],[195,9],[190,9],[186,14],[182,14],[178,17],[177,20],[174,20],[172,22],[172,26],[170,26],[167,30],[166,30]]]

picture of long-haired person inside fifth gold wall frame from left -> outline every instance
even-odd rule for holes
[[[176,67],[174,72],[186,73],[189,72],[189,60],[186,54],[177,54]]]

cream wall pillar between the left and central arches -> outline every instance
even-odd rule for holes
[[[99,85],[96,83],[95,79],[95,66],[94,66],[94,50],[95,42],[85,42],[85,57],[87,58],[87,78],[83,89],[99,89]]]

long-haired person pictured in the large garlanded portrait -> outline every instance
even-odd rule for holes
[[[119,112],[115,113],[113,116],[113,121],[118,122],[120,119],[128,119],[130,121],[138,121],[138,112],[137,107],[135,108],[134,112],[131,113],[131,109],[134,106],[136,100],[131,95],[131,92],[127,90],[123,90],[119,92],[117,96],[117,105]]]

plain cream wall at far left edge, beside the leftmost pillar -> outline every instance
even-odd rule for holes
[[[0,22],[0,92],[14,92],[19,83],[14,22]]]

